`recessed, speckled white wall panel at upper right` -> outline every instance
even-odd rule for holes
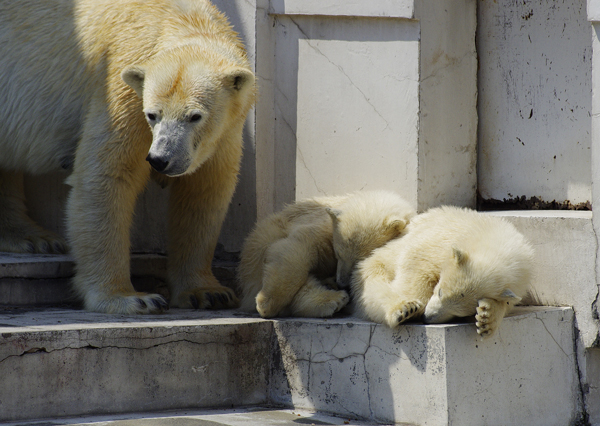
[[[480,194],[590,201],[585,0],[478,6]]]

